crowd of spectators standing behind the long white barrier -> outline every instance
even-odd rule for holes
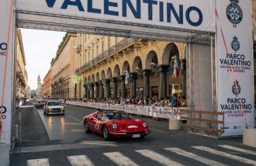
[[[163,106],[163,107],[186,107],[187,101],[185,97],[177,97],[176,94],[173,94],[173,97],[166,97],[163,99],[161,97],[117,97],[116,99],[112,98],[83,98],[83,99],[69,99],[69,101],[80,101],[80,102],[97,102],[97,103],[107,103],[107,104],[133,104],[137,106]]]

